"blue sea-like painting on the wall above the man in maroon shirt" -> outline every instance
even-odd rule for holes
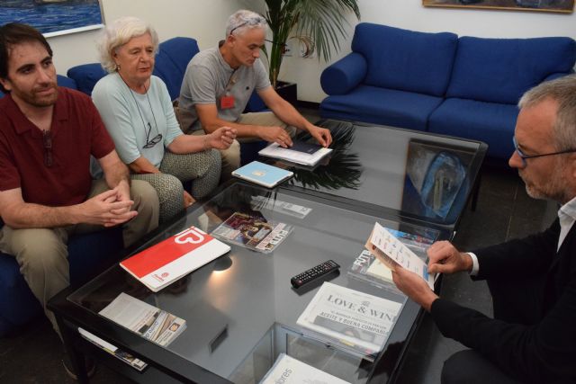
[[[45,37],[103,26],[100,0],[0,0],[0,25],[30,24]]]

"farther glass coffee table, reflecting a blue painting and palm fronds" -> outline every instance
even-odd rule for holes
[[[261,157],[294,172],[288,186],[452,231],[473,194],[474,207],[485,143],[362,122],[316,124],[330,129],[334,139],[331,155],[318,165]],[[303,132],[297,139],[311,140]]]

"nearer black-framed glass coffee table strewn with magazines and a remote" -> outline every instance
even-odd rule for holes
[[[375,222],[410,234],[411,239],[429,241],[449,238],[452,230],[401,215],[400,210],[374,210],[371,203],[348,203],[294,185],[268,190],[231,181],[210,201],[194,204],[131,253],[190,226],[212,233],[238,212],[283,223],[290,230],[268,253],[230,241],[229,254],[157,293],[117,264],[80,289],[68,288],[50,300],[49,308],[73,360],[81,361],[88,353],[138,382],[257,383],[285,353],[351,383],[392,382],[421,311],[391,282],[374,281],[358,272],[356,258]],[[340,270],[324,281],[401,305],[387,342],[373,358],[313,337],[296,323],[323,281],[294,290],[291,277],[329,259]],[[100,316],[98,312],[122,292],[184,318],[186,329],[162,347]],[[134,370],[85,341],[78,327],[147,362],[148,367]],[[85,371],[79,373],[80,380],[86,381]]]

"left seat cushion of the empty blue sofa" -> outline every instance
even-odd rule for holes
[[[428,94],[360,85],[349,94],[324,99],[320,103],[320,115],[322,118],[426,130],[428,116],[441,102],[441,98]]]

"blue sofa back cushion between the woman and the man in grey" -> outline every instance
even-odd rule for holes
[[[198,43],[191,38],[176,37],[160,43],[154,75],[164,80],[172,100],[180,95],[186,67],[199,51]]]

